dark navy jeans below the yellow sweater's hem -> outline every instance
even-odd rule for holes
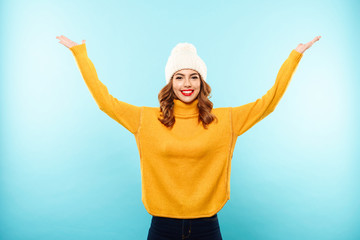
[[[217,214],[178,219],[153,216],[147,240],[222,240]]]

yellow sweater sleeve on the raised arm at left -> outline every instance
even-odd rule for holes
[[[119,101],[109,94],[107,87],[99,80],[94,64],[87,56],[85,43],[71,47],[70,50],[100,110],[135,134],[139,129],[142,108]]]

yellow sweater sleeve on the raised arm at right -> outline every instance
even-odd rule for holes
[[[254,102],[239,107],[231,107],[233,131],[237,136],[240,136],[249,130],[252,126],[275,110],[275,107],[284,95],[302,56],[302,53],[293,49],[282,64],[277,74],[275,84],[265,95]]]

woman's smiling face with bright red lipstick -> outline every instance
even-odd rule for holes
[[[172,79],[172,86],[175,95],[185,103],[194,101],[201,86],[200,75],[192,69],[182,69],[175,72]]]

